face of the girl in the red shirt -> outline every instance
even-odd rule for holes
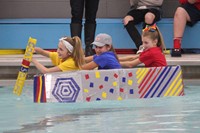
[[[157,46],[157,40],[152,40],[149,36],[142,37],[142,45],[144,46],[144,50],[147,50],[152,47]]]

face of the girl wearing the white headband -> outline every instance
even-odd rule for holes
[[[70,56],[70,52],[62,42],[58,43],[57,53],[60,59],[67,59]]]

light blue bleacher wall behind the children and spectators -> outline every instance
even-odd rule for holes
[[[0,19],[0,49],[25,49],[30,36],[38,40],[37,46],[44,49],[56,49],[60,37],[70,36],[69,25],[70,19]],[[173,18],[163,18],[157,25],[163,34],[166,47],[171,49],[173,47]],[[137,28],[141,29],[141,25],[137,25]],[[186,27],[182,48],[200,48],[199,31],[200,22],[192,28]],[[134,43],[123,26],[122,19],[97,19],[96,34],[102,32],[113,37],[116,49],[135,49]]]

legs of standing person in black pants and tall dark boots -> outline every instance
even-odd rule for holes
[[[70,0],[71,5],[71,36],[79,36],[81,38],[82,19],[85,8],[85,24],[84,24],[84,41],[85,55],[93,55],[91,43],[94,41],[96,31],[96,14],[98,10],[99,0]]]

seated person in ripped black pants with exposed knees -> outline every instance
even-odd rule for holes
[[[163,0],[130,0],[131,9],[124,17],[124,26],[135,43],[137,49],[142,45],[141,35],[136,24],[144,22],[146,25],[153,25],[161,19],[161,6]]]

